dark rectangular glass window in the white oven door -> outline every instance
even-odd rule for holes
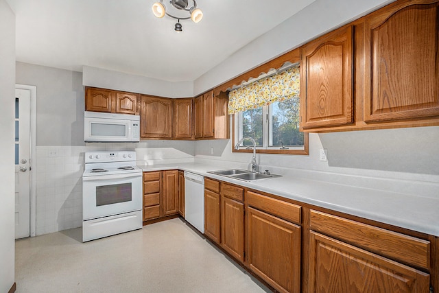
[[[130,202],[132,196],[131,183],[104,185],[96,187],[96,206]]]

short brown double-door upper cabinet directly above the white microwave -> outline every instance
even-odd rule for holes
[[[86,87],[86,111],[137,115],[138,102],[136,93]]]

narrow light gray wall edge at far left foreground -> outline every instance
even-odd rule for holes
[[[14,284],[15,16],[0,0],[0,292]]]

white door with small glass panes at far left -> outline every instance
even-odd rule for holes
[[[30,97],[15,90],[15,238],[30,235]]]

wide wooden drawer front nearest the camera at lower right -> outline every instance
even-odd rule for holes
[[[384,257],[428,269],[430,242],[311,210],[311,229]]]

